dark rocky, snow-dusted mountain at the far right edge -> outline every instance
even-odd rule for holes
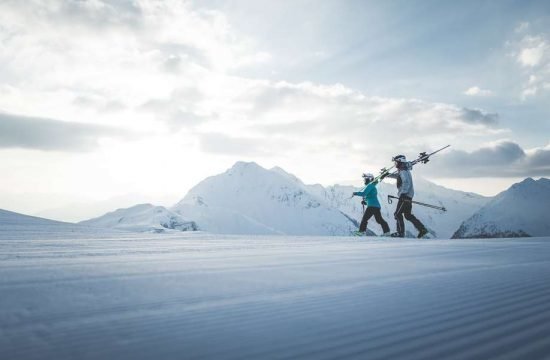
[[[550,235],[550,180],[527,178],[495,196],[464,221],[453,238]]]

